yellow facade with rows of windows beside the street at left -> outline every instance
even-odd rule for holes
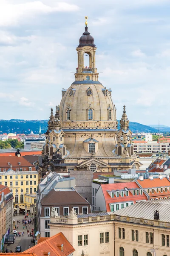
[[[38,185],[37,171],[15,172],[8,169],[0,172],[0,184],[8,186],[14,196],[14,207],[24,209],[25,205],[36,204],[36,190]]]

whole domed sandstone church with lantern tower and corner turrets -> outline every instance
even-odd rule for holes
[[[85,25],[77,47],[75,81],[62,90],[56,112],[51,109],[46,144],[39,161],[42,176],[49,170],[113,172],[139,169],[142,165],[133,152],[125,106],[118,130],[112,91],[98,80],[97,48],[88,32],[87,20]],[[88,66],[84,64],[85,56],[89,58]]]

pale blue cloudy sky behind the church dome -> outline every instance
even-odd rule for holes
[[[0,119],[48,119],[74,81],[79,37],[94,36],[117,118],[170,126],[169,0],[0,0]]]

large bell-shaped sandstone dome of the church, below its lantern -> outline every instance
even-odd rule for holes
[[[88,83],[86,83],[88,82]],[[90,90],[90,91],[89,91]],[[59,115],[62,127],[90,127],[89,123],[94,123],[94,127],[115,128],[116,110],[111,99],[111,90],[107,90],[99,81],[75,81],[62,97]],[[71,119],[67,119],[67,111],[71,111]],[[92,109],[93,119],[88,119],[88,110]],[[108,111],[111,110],[109,119]],[[67,125],[64,125],[67,122]],[[77,122],[77,123],[75,123]],[[82,125],[78,124],[83,122]],[[96,124],[99,122],[98,124]],[[109,122],[109,124],[108,124]],[[74,125],[74,126],[72,126]]]

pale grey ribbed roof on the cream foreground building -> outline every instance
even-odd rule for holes
[[[140,201],[136,204],[115,211],[114,214],[153,220],[154,211],[156,210],[159,211],[159,221],[170,222],[170,199]]]

